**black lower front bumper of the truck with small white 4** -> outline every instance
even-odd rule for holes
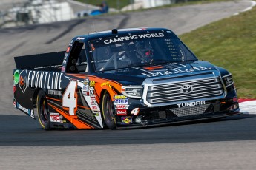
[[[135,107],[140,108],[138,115],[131,112]],[[240,114],[238,103],[232,98],[206,101],[203,105],[178,107],[177,105],[149,108],[131,104],[127,115],[116,116],[116,127],[127,128],[137,126],[158,126],[211,118],[224,118]]]

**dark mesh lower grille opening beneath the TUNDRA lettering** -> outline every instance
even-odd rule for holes
[[[169,109],[173,112],[177,117],[182,116],[189,116],[189,115],[200,115],[206,112],[206,109],[209,107],[210,104],[200,105],[200,106],[189,106],[189,107],[182,107],[177,109]]]

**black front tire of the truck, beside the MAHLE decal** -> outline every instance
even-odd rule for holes
[[[111,100],[111,95],[107,91],[104,92],[102,98],[102,115],[105,121],[105,125],[109,129],[116,129],[116,116],[114,103]]]

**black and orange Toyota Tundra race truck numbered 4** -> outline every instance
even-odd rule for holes
[[[43,129],[121,129],[240,113],[232,74],[171,30],[113,29],[14,58],[13,106]]]

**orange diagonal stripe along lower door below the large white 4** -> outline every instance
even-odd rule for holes
[[[53,106],[48,103],[49,106],[51,106],[53,109],[55,109],[59,114],[64,116],[67,120],[69,120],[71,123],[73,123],[74,126],[76,126],[77,129],[93,129],[92,126],[89,126],[88,124],[82,122],[81,120],[77,120],[76,118],[70,118],[70,116],[63,112],[61,109],[58,109],[56,106]]]

